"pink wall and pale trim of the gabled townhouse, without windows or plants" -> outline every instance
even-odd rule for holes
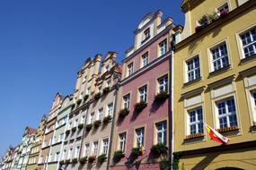
[[[157,23],[158,13],[154,13],[154,16],[149,16],[151,19],[142,29],[136,33],[136,41],[138,34],[143,32],[147,28],[151,27],[151,24]],[[160,19],[161,21],[161,19]],[[161,23],[161,22],[160,22]],[[164,23],[161,23],[162,25]],[[141,24],[140,24],[141,25]],[[167,25],[167,24],[166,24]],[[141,46],[134,46],[134,51],[131,54],[127,54],[127,58],[124,60],[124,72],[123,78],[120,83],[119,89],[119,106],[118,113],[124,107],[126,107],[126,96],[129,96],[128,115],[116,115],[117,127],[114,134],[114,143],[112,152],[117,150],[123,150],[125,157],[119,161],[112,161],[110,169],[159,169],[160,157],[155,157],[151,152],[153,145],[159,143],[160,135],[158,132],[158,124],[163,123],[163,143],[168,146],[168,134],[169,134],[169,123],[168,123],[168,106],[169,98],[166,98],[162,102],[155,102],[154,98],[160,93],[160,81],[165,78],[166,82],[164,89],[166,93],[169,93],[170,85],[170,59],[171,59],[171,47],[170,47],[170,36],[172,32],[172,24],[165,26],[161,31],[154,30],[153,36]],[[153,26],[154,27],[154,26]],[[159,29],[160,26],[158,26]],[[155,27],[154,27],[155,28]],[[158,32],[155,34],[155,32]],[[143,39],[142,39],[143,40]],[[166,48],[164,53],[161,53],[161,44],[166,42]],[[140,44],[140,42],[136,42]],[[143,44],[143,43],[141,43]],[[143,64],[142,57],[148,54],[148,63]],[[128,65],[133,64],[133,71],[128,71]],[[136,105],[141,101],[141,87],[146,87],[146,107],[141,112],[136,111]],[[162,134],[163,134],[162,133]],[[123,138],[125,134],[125,144],[122,147]],[[136,158],[131,157],[132,149],[138,148],[140,152],[144,152]],[[167,154],[167,153],[166,153]],[[114,154],[113,156],[114,157]]]

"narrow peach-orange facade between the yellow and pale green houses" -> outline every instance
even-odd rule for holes
[[[63,99],[64,98],[59,93],[57,93],[53,100],[40,149],[40,159],[37,167],[38,170],[46,169],[48,166],[48,161],[51,160],[51,157],[49,155],[49,149],[53,140],[53,133],[57,120],[57,110],[61,106]]]

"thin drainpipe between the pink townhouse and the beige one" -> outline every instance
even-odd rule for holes
[[[117,75],[118,82],[115,87],[115,106],[113,111],[113,118],[112,118],[112,124],[111,124],[111,133],[110,133],[110,147],[109,147],[109,153],[108,153],[108,162],[107,162],[107,170],[110,169],[110,153],[112,150],[112,140],[113,140],[113,133],[114,133],[114,127],[115,127],[115,121],[116,121],[116,111],[118,106],[118,97],[119,97],[119,81],[120,81],[120,75]]]

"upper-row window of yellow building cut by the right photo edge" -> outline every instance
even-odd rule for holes
[[[256,28],[240,35],[243,44],[244,57],[250,57],[256,54]]]

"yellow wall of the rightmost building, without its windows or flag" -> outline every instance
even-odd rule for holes
[[[192,2],[192,3],[191,3]],[[252,91],[256,89],[256,55],[244,58],[241,35],[256,28],[256,1],[198,0],[183,3],[186,23],[174,54],[174,152],[181,152],[179,169],[236,167],[256,169],[255,117]],[[205,13],[227,3],[229,13],[195,33]],[[226,46],[229,64],[214,71],[213,49]],[[188,81],[188,64],[199,57],[200,78]],[[183,67],[183,69],[181,69]],[[236,125],[228,116],[221,127],[219,105],[233,99]],[[221,146],[203,133],[190,132],[190,111],[201,108],[202,122],[229,138]],[[225,107],[229,110],[229,107]],[[253,123],[254,122],[254,123]]]

